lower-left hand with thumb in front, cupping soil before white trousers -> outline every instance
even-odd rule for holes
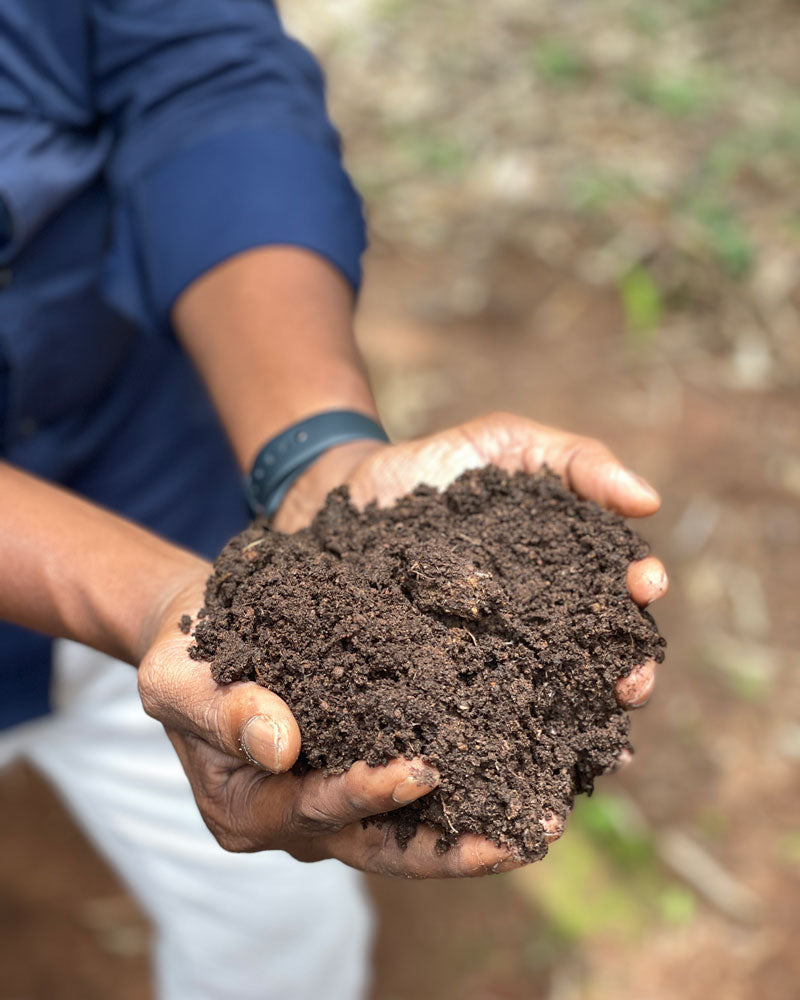
[[[183,586],[158,615],[139,667],[147,713],[163,723],[200,813],[229,851],[283,850],[300,861],[338,858],[363,871],[406,878],[482,875],[516,867],[509,852],[463,836],[438,854],[438,834],[420,829],[401,850],[392,827],[361,820],[398,809],[432,791],[438,774],[419,760],[385,767],[354,764],[341,775],[289,773],[300,732],[286,703],[250,681],[219,685],[208,665],[189,658],[178,628],[203,603],[210,567]]]

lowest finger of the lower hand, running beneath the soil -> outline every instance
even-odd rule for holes
[[[439,834],[419,827],[407,847],[401,848],[388,823],[348,826],[331,835],[326,853],[361,871],[402,878],[471,878],[510,871],[523,861],[505,847],[483,837],[464,834],[449,850],[437,850]]]

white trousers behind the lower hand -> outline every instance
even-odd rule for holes
[[[160,1000],[360,1000],[360,875],[223,851],[127,664],[59,641],[53,682],[51,716],[0,732],[0,765],[21,756],[43,772],[147,911]]]

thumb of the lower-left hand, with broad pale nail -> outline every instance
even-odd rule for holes
[[[189,659],[183,636],[145,659],[139,692],[147,713],[160,722],[273,773],[290,768],[300,752],[300,730],[282,698],[252,681],[217,684],[204,665]]]

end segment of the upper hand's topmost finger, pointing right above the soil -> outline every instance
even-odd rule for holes
[[[615,510],[623,517],[646,517],[661,506],[653,487],[626,469],[604,444],[591,438],[571,439],[562,453],[561,472],[579,496]]]

